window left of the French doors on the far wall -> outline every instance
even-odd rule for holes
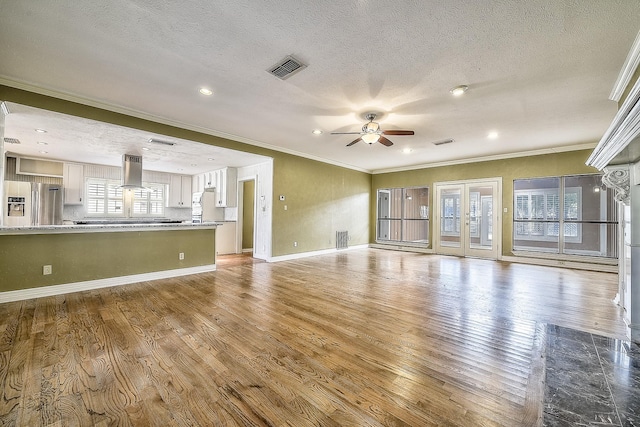
[[[405,243],[429,243],[429,188],[378,190],[376,239]]]

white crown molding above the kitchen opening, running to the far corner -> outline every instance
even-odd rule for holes
[[[76,104],[82,104],[82,105],[86,105],[88,107],[99,108],[101,110],[111,111],[113,113],[124,114],[124,115],[127,115],[127,116],[136,117],[138,119],[143,119],[143,120],[148,120],[148,121],[160,123],[160,124],[163,124],[163,125],[173,126],[173,127],[177,127],[177,128],[185,129],[185,130],[190,130],[190,131],[194,131],[194,132],[199,132],[199,133],[203,133],[203,134],[206,134],[206,135],[216,136],[216,137],[219,137],[219,138],[225,138],[225,139],[228,139],[230,141],[241,142],[243,144],[253,145],[255,147],[260,147],[260,148],[264,148],[264,149],[267,149],[267,150],[277,151],[277,152],[285,153],[285,154],[291,154],[293,156],[303,157],[303,158],[306,158],[306,159],[309,159],[309,160],[315,160],[315,161],[322,162],[322,163],[328,163],[328,164],[331,164],[331,165],[334,165],[334,166],[339,166],[339,167],[346,168],[346,169],[352,169],[352,170],[359,171],[359,172],[371,173],[371,171],[368,170],[368,169],[359,168],[357,166],[349,165],[349,164],[346,164],[346,163],[341,163],[341,162],[336,162],[336,161],[333,161],[333,160],[328,160],[328,159],[325,159],[325,158],[322,158],[322,157],[313,156],[313,155],[306,154],[306,153],[301,153],[301,152],[296,151],[296,150],[290,150],[288,148],[278,147],[278,146],[275,146],[275,145],[267,144],[266,142],[261,142],[261,141],[255,140],[255,139],[245,138],[245,137],[242,137],[242,136],[238,136],[238,135],[234,135],[234,134],[230,134],[230,133],[226,133],[226,132],[217,131],[217,130],[214,130],[214,129],[209,129],[209,128],[204,128],[204,127],[200,127],[200,126],[189,125],[187,123],[183,123],[183,122],[179,122],[179,121],[175,121],[175,120],[170,120],[170,119],[167,119],[165,117],[160,117],[160,116],[155,116],[155,115],[152,115],[152,114],[148,114],[148,113],[145,113],[145,112],[140,111],[140,110],[135,110],[135,109],[127,108],[127,107],[122,107],[122,106],[119,106],[119,105],[114,105],[114,104],[108,104],[108,103],[104,103],[104,102],[95,101],[93,99],[84,98],[84,97],[81,97],[81,96],[78,96],[78,95],[75,95],[75,94],[72,94],[72,93],[68,93],[68,92],[61,92],[61,91],[55,91],[55,90],[47,89],[47,88],[44,88],[44,87],[41,87],[41,86],[36,86],[36,85],[30,84],[30,83],[9,79],[9,78],[7,78],[5,76],[0,76],[0,85],[13,87],[15,89],[24,90],[24,91],[27,91],[27,92],[37,93],[39,95],[50,96],[52,98],[58,98],[58,99],[62,99],[64,101],[75,102]],[[195,141],[195,142],[198,142],[198,141]]]

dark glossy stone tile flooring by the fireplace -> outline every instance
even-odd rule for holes
[[[544,426],[640,426],[640,346],[547,325]]]

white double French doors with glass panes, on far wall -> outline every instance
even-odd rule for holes
[[[498,259],[501,178],[435,184],[437,253]]]

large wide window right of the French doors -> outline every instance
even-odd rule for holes
[[[602,175],[515,180],[513,249],[617,257],[617,203]]]

